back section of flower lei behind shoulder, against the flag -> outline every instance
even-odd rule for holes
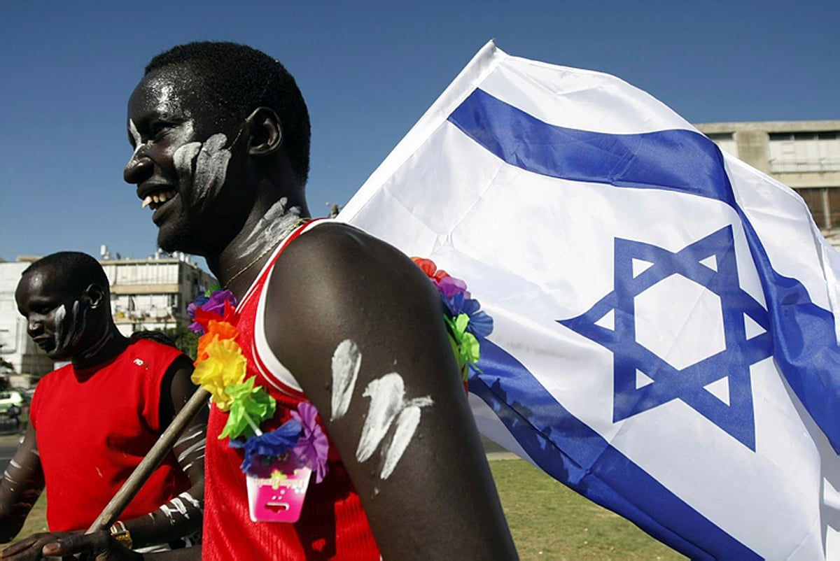
[[[480,372],[476,365],[481,357],[480,342],[493,331],[493,318],[480,310],[479,301],[471,298],[464,281],[438,269],[433,260],[412,257],[412,261],[426,273],[444,301],[449,343],[458,361],[461,377],[466,382],[470,370]]]

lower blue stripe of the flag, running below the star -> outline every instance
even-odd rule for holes
[[[690,558],[760,558],[566,411],[504,349],[483,341],[479,368],[470,392],[543,471]]]

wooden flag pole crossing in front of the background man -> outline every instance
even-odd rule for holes
[[[117,494],[113,495],[113,499],[102,510],[102,514],[91,524],[91,527],[87,528],[86,534],[97,532],[98,530],[107,530],[111,527],[113,522],[122,514],[125,507],[129,505],[134,495],[137,495],[140,487],[143,486],[152,472],[155,471],[160,461],[164,459],[165,455],[172,449],[172,446],[175,445],[176,438],[181,436],[186,426],[192,421],[192,417],[196,416],[202,406],[207,406],[209,399],[210,392],[203,388],[198,388],[192,394],[190,401],[187,401],[186,405],[172,419],[169,427],[166,427],[166,430],[160,435],[155,446],[149,450],[149,454],[146,454],[146,457],[134,468],[134,472],[129,475],[129,479],[125,480],[125,483],[117,491]]]

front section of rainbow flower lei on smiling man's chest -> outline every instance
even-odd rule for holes
[[[261,476],[275,459],[293,455],[312,469],[315,483],[328,471],[327,435],[318,424],[318,409],[306,401],[291,412],[291,419],[270,432],[260,430],[262,422],[274,417],[276,401],[255,376],[245,378],[248,359],[236,338],[236,296],[227,290],[211,288],[187,307],[193,322],[190,329],[201,333],[198,339],[196,369],[192,381],[209,391],[219,411],[228,412],[228,422],[219,439],[230,438],[231,448],[244,449],[241,465],[245,474]]]

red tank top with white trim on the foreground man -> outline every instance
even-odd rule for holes
[[[282,250],[301,233],[323,222],[307,223],[291,233],[237,307],[237,342],[248,359],[247,376],[255,375],[257,384],[276,399],[274,426],[291,418],[291,411],[297,410],[306,396],[265,343],[261,329],[265,298],[260,296]],[[251,522],[245,476],[239,469],[242,451],[229,448],[228,438],[218,439],[227,420],[227,412],[212,407],[205,458],[203,559],[381,558],[359,495],[332,444],[329,472],[319,484],[314,477],[310,481],[298,522]]]

